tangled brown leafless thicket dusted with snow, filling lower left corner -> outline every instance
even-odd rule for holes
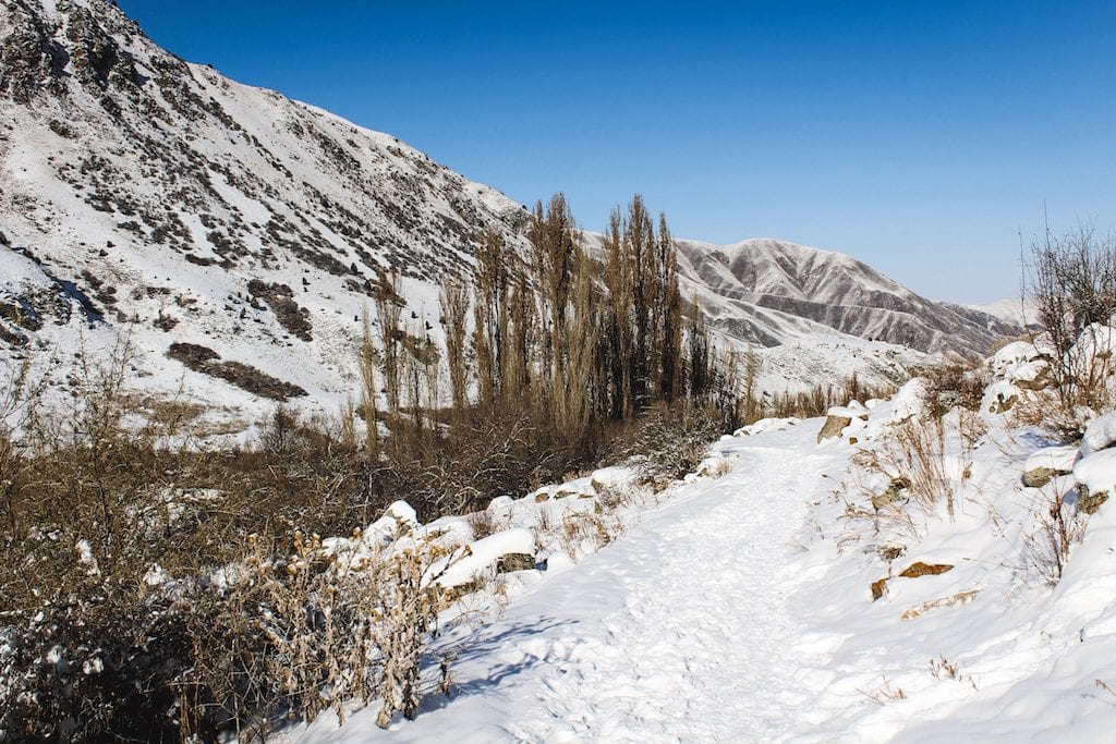
[[[377,697],[413,714],[436,553],[339,573],[315,537],[378,515],[388,476],[282,408],[258,447],[166,448],[137,423],[126,354],[80,364],[64,415],[31,422],[25,383],[0,410],[0,728],[213,741]]]

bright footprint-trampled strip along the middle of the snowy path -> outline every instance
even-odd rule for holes
[[[598,554],[595,573],[618,577],[619,607],[548,644],[554,660],[533,704],[516,706],[512,737],[769,741],[801,723],[815,659],[783,601],[783,567],[818,457],[734,452],[732,473]]]

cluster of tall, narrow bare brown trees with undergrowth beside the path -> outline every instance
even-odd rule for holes
[[[635,196],[598,242],[558,194],[527,238],[490,231],[475,271],[443,278],[439,344],[406,327],[396,277],[382,277],[365,327],[367,455],[453,471],[452,508],[590,465],[652,408],[734,423],[734,374],[702,313],[686,319],[664,216]]]

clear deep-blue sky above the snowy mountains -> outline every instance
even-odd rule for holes
[[[581,226],[839,250],[1018,296],[1023,242],[1113,226],[1116,3],[119,0],[157,42]]]

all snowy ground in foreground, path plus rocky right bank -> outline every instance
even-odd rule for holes
[[[873,509],[854,455],[888,446],[915,389],[821,443],[820,418],[723,438],[723,476],[634,510],[579,563],[506,574],[497,615],[437,641],[456,655],[453,692],[415,721],[378,729],[373,706],[287,741],[1112,741],[1116,505],[1051,580],[1041,516],[1065,493],[1081,523],[1072,476],[1024,485],[1049,442],[988,413],[962,436],[954,412],[939,457],[953,518],[910,497]],[[514,522],[536,504],[501,508]]]

